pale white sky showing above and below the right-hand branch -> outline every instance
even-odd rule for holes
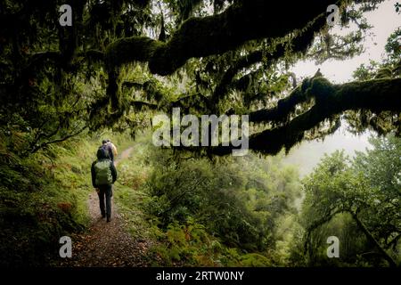
[[[400,1],[398,0],[398,2]],[[397,14],[394,7],[396,3],[397,0],[386,1],[380,4],[377,10],[365,14],[368,23],[373,26],[374,35],[365,39],[363,44],[365,51],[361,55],[346,61],[326,61],[319,66],[316,66],[314,61],[302,61],[293,67],[292,72],[297,77],[312,77],[320,68],[323,76],[331,82],[352,81],[352,73],[361,63],[369,64],[370,60],[382,61],[387,38],[401,26],[401,15]],[[340,28],[334,29],[336,33],[339,30]],[[341,34],[346,31],[341,31]],[[331,153],[335,150],[344,149],[348,155],[352,156],[354,151],[364,151],[370,147],[367,141],[368,137],[369,132],[354,135],[348,133],[345,127],[341,126],[336,133],[326,136],[323,142],[301,142],[299,146],[290,151],[290,154],[284,159],[284,163],[299,166],[299,174],[301,176],[307,175],[326,152]]]

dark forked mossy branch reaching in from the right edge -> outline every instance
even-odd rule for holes
[[[372,112],[399,111],[401,78],[381,78],[363,82],[332,85],[327,79],[317,77],[303,82],[291,95],[278,102],[273,109],[250,113],[251,123],[282,123],[280,126],[251,134],[250,150],[275,155],[285,148],[287,151],[304,139],[307,131],[347,110],[371,110]],[[310,99],[315,104],[292,119],[299,103]],[[196,147],[176,147],[196,151]],[[215,155],[228,155],[233,146],[210,147]]]

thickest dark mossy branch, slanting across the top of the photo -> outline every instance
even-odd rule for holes
[[[106,59],[113,67],[149,62],[151,73],[165,76],[193,57],[225,53],[253,39],[284,37],[324,14],[328,4],[332,2],[313,0],[305,10],[301,2],[273,7],[264,0],[241,1],[220,14],[184,21],[166,44],[147,37],[119,39],[107,48]]]

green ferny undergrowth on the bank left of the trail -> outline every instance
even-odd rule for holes
[[[2,142],[4,142],[2,140]],[[0,154],[2,266],[52,265],[59,239],[86,229],[88,167],[97,142],[72,139],[25,159]]]

